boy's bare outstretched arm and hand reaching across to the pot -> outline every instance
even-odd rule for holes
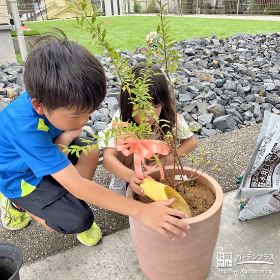
[[[141,220],[145,225],[158,231],[163,236],[174,240],[174,237],[166,230],[179,236],[185,233],[177,227],[189,229],[189,226],[174,216],[186,218],[187,214],[166,207],[174,202],[166,200],[144,204],[132,199],[128,199],[107,188],[96,184],[93,181],[82,178],[72,164],[67,165],[61,171],[51,174],[51,176],[70,191],[76,198],[90,202],[94,205],[132,216]],[[172,215],[172,216],[171,216]]]

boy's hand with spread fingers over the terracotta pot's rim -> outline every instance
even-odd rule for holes
[[[156,230],[168,239],[174,240],[175,238],[166,230],[184,237],[186,234],[175,226],[189,230],[189,225],[187,225],[181,219],[173,216],[187,218],[188,215],[179,210],[166,207],[172,205],[174,201],[175,199],[170,199],[150,204],[143,204],[143,208],[139,213],[138,219],[141,220],[146,226]]]

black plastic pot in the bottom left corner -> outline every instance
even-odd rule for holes
[[[21,264],[21,250],[14,244],[0,243],[0,279],[19,280]]]

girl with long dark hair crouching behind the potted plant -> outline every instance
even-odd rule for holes
[[[143,77],[142,73],[143,71],[145,71],[145,69],[147,69],[146,64],[139,64],[134,66],[132,68],[132,72],[135,74],[134,78],[136,79],[140,76]],[[159,117],[160,120],[169,121],[168,125],[170,127],[163,126],[164,122],[160,122],[159,124],[160,126],[163,126],[162,130],[164,134],[166,134],[168,130],[170,130],[172,133],[175,133],[175,111],[173,107],[172,96],[169,92],[165,76],[156,66],[151,67],[149,71],[151,71],[152,73],[161,73],[157,75],[151,75],[151,77],[149,77],[149,79],[152,80],[149,81],[149,83],[151,83],[151,85],[149,86],[149,94],[153,98],[151,99],[151,103],[155,108],[155,114],[157,117]],[[119,101],[120,108],[116,112],[112,120],[115,120],[115,118],[117,117],[118,120],[121,120],[123,122],[134,122],[136,124],[140,124],[139,113],[133,117],[131,116],[133,112],[133,104],[129,103],[131,102],[128,99],[129,97],[130,96],[127,90],[121,90]],[[177,114],[177,122],[178,138],[182,141],[181,145],[178,147],[177,152],[179,157],[182,158],[182,154],[190,153],[197,147],[198,142],[197,139],[195,139],[195,137],[193,136],[193,133],[188,130],[189,127],[183,117],[179,114]],[[113,121],[109,124],[109,129],[111,128],[112,123]],[[99,133],[99,135],[102,134],[102,132]],[[161,139],[162,135],[155,135],[157,139]],[[133,155],[126,157],[122,152],[118,152],[115,148],[113,138],[109,139],[107,146],[102,144],[102,147],[100,148],[104,149],[103,166],[110,173],[112,173],[109,189],[126,196],[126,182],[129,182],[132,189],[137,194],[144,197],[143,189],[139,186],[139,184],[142,184],[144,182],[142,179],[137,178],[135,171],[132,170]],[[159,159],[163,165],[171,165],[173,163],[173,157],[171,156],[171,153],[166,156],[162,155],[159,157]],[[155,160],[150,161],[148,165],[155,165]],[[150,178],[146,174],[144,174],[144,177]]]

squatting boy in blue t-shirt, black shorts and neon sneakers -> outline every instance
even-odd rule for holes
[[[61,31],[43,36],[26,61],[26,92],[0,114],[0,199],[2,223],[18,230],[31,215],[44,227],[76,234],[89,246],[102,233],[86,200],[133,216],[169,239],[165,229],[185,236],[183,212],[166,206],[174,199],[143,204],[92,181],[98,153],[67,157],[59,144],[81,145],[81,129],[106,94],[98,60]],[[74,141],[74,142],[73,142]],[[26,212],[29,214],[27,214]],[[172,216],[173,215],[173,216]]]

